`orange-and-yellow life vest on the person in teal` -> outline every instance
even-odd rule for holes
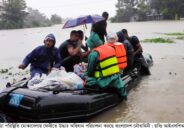
[[[99,63],[95,70],[95,78],[107,77],[119,73],[116,53],[112,47],[104,44],[93,50],[99,53]]]

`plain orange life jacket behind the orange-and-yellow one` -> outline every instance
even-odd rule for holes
[[[122,43],[107,43],[107,45],[115,49],[116,57],[118,59],[118,65],[120,69],[125,69],[127,67],[127,56],[126,49]]]

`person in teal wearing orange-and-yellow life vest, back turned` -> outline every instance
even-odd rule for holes
[[[103,45],[103,41],[95,32],[91,32],[87,45],[92,52],[88,56],[86,85],[98,86],[102,89],[111,86],[117,89],[120,96],[126,97],[114,49],[107,44]]]

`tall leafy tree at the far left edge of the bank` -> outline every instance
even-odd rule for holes
[[[3,3],[1,14],[1,28],[16,29],[24,27],[24,19],[27,16],[24,0],[6,0]]]

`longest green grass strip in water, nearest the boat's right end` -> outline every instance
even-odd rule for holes
[[[151,38],[151,39],[144,39],[141,42],[144,42],[144,43],[175,43],[170,38]]]

